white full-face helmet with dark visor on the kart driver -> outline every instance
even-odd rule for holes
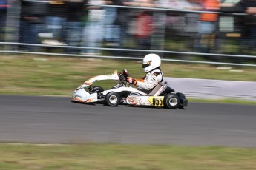
[[[142,67],[144,72],[150,72],[151,70],[160,67],[161,59],[156,54],[148,54],[143,58]]]

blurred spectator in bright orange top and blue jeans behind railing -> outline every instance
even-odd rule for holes
[[[200,7],[191,7],[191,10],[217,11],[219,7],[220,1],[218,0],[201,0]],[[208,53],[214,44],[218,15],[216,13],[201,13],[199,20],[194,50]]]

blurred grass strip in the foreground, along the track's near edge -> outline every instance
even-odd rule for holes
[[[0,143],[0,169],[238,170],[255,169],[256,149],[104,143]]]

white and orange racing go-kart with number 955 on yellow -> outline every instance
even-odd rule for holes
[[[114,71],[108,75],[98,75],[88,79],[73,91],[72,102],[75,103],[105,103],[107,106],[119,104],[134,106],[161,106],[168,109],[183,109],[188,105],[186,96],[181,92],[175,92],[167,83],[159,83],[149,92],[135,89],[126,81],[129,74],[126,69],[122,73]],[[116,86],[104,90],[101,86],[93,86],[96,81],[118,81]]]

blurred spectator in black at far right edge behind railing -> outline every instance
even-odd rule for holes
[[[220,10],[225,13],[247,13],[244,16],[244,30],[242,38],[246,42],[245,47],[249,47],[246,53],[255,50],[256,47],[256,1],[241,0],[237,4],[221,4]]]

